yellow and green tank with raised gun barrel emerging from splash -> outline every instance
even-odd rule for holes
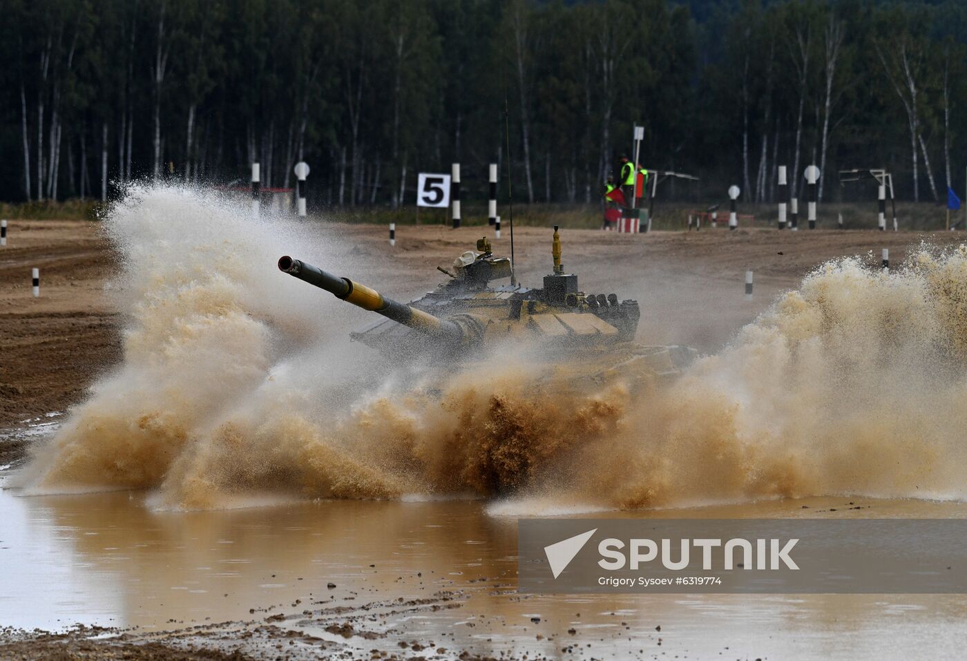
[[[289,256],[278,260],[278,269],[382,317],[350,337],[396,362],[472,367],[494,352],[519,348],[519,356],[543,362],[548,370],[567,366],[567,380],[583,389],[618,379],[632,388],[653,386],[694,359],[689,347],[636,344],[638,303],[581,291],[561,255],[555,226],[552,272],[544,275],[542,288],[528,288],[515,282],[511,260],[494,255],[484,237],[476,250],[456,257],[451,269],[437,267],[447,281],[409,303]]]

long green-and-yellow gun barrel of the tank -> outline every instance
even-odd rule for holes
[[[381,314],[398,324],[420,331],[431,337],[458,343],[464,339],[463,329],[451,321],[434,317],[415,307],[389,299],[365,284],[354,282],[348,277],[339,277],[289,256],[278,259],[278,270],[294,275],[311,285],[325,289],[337,299],[351,302],[364,310]]]

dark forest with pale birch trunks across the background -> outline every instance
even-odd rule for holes
[[[641,162],[838,199],[885,167],[945,202],[967,167],[967,5],[869,0],[0,0],[0,200],[132,180],[412,204],[417,173],[513,170],[522,203],[589,203]],[[510,161],[510,162],[508,162]],[[959,174],[958,174],[959,173]],[[959,187],[958,187],[959,185]],[[674,193],[674,191],[671,191]],[[502,193],[503,194],[503,193]],[[485,197],[485,196],[484,196]]]

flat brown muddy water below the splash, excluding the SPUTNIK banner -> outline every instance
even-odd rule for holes
[[[967,516],[961,503],[864,500],[862,510],[839,509],[846,501],[593,516]],[[6,490],[0,622],[163,630],[276,617],[358,654],[420,641],[552,657],[569,648],[569,658],[874,659],[927,650],[955,658],[967,639],[967,596],[959,595],[516,595],[516,519],[501,512],[527,507],[322,501],[160,512],[142,492]],[[421,599],[432,607],[393,607]],[[320,607],[365,617],[349,636],[297,617]]]

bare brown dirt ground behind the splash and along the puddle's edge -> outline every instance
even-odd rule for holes
[[[448,265],[455,255],[472,248],[486,229],[403,226],[397,230],[395,248],[389,246],[383,228],[372,225],[328,225],[326,231],[337,232],[367,259],[378,258],[381,265],[372,273],[344,274],[408,300],[439,281],[435,267]],[[507,238],[505,230],[504,239],[495,245],[496,252],[509,251]],[[563,238],[566,269],[578,273],[584,291],[614,291],[620,298],[640,302],[640,341],[688,344],[712,352],[779,293],[793,288],[803,275],[828,259],[870,253],[870,263],[878,264],[880,249],[888,247],[892,263],[897,264],[922,240],[951,244],[959,242],[961,235],[706,229],[627,236],[568,230]],[[549,230],[517,230],[515,253],[520,279],[540,286],[541,275],[550,268]],[[311,255],[296,256],[311,261]],[[115,254],[94,223],[10,223],[8,245],[0,248],[0,466],[18,460],[29,443],[16,430],[29,421],[67,410],[83,398],[92,380],[122,359],[123,319],[108,291],[115,264]],[[39,299],[31,293],[31,268],[41,270]],[[744,296],[747,270],[755,273],[751,302]],[[734,305],[723,309],[722,301],[734,301]],[[717,311],[714,318],[709,314],[711,308]],[[433,603],[409,606],[447,607],[449,597],[434,598]],[[336,626],[341,621],[336,615],[313,617],[333,616]],[[0,629],[0,658],[228,659],[249,658],[249,651],[258,648],[277,651],[270,656],[286,658],[295,653],[292,647],[298,647],[287,641],[284,622],[271,621],[213,625],[157,640],[154,635],[109,631],[105,633],[110,637],[95,641],[90,639],[92,633],[97,632],[77,629],[45,634]],[[223,645],[239,637],[280,643],[268,647]],[[314,649],[318,653],[319,647]],[[400,655],[422,658],[415,651],[419,650],[407,649]],[[265,656],[262,652],[256,655]]]

